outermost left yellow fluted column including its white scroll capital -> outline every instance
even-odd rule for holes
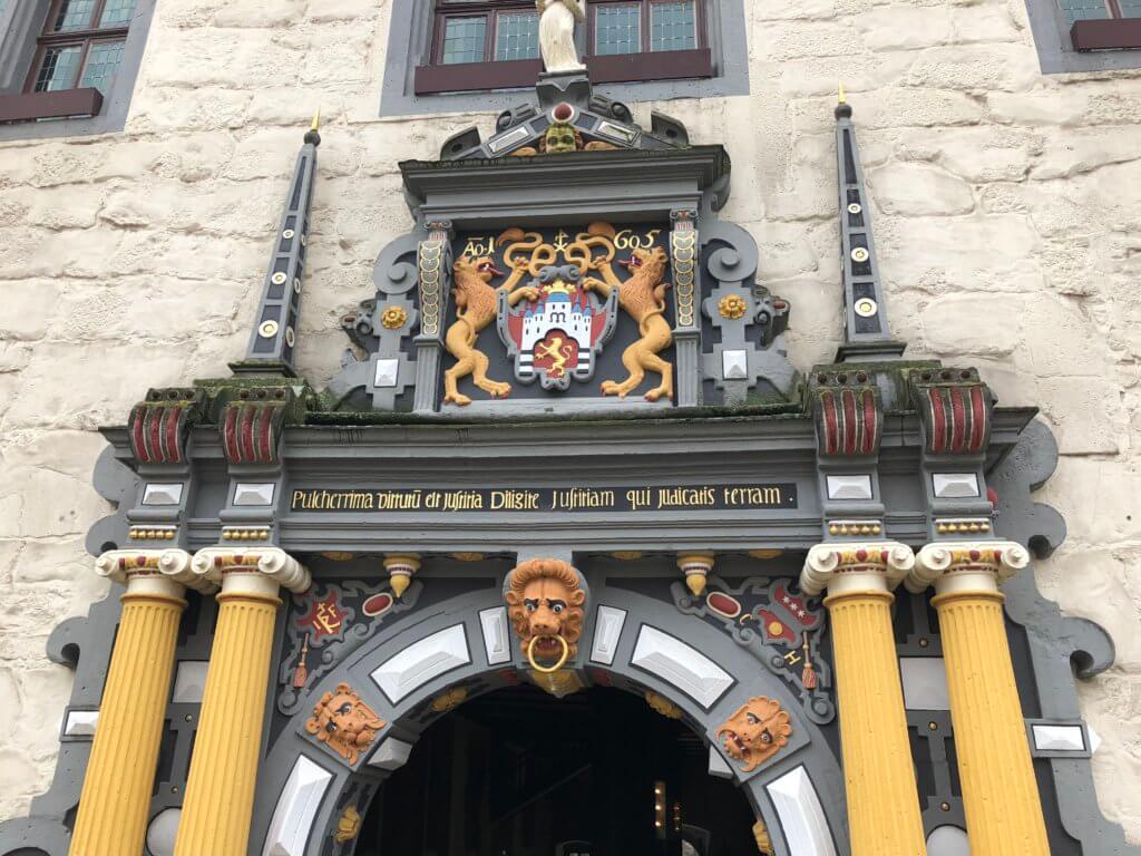
[[[113,550],[98,558],[96,571],[127,592],[70,853],[123,856],[143,853],[184,583],[202,588],[203,581],[183,550]]]

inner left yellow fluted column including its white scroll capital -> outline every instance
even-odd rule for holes
[[[245,856],[278,588],[304,591],[309,574],[276,548],[209,548],[194,570],[221,593],[175,856]]]

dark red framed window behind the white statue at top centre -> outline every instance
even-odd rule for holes
[[[591,0],[594,83],[712,76],[704,0]],[[418,95],[528,87],[542,71],[534,0],[438,0]]]

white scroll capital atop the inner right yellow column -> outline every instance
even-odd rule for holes
[[[808,551],[800,587],[816,596],[861,589],[891,591],[915,566],[915,554],[898,541],[817,544]]]

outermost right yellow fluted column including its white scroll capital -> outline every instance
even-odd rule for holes
[[[1050,856],[998,591],[1029,560],[1010,541],[929,544],[907,581],[936,587],[972,856]]]

